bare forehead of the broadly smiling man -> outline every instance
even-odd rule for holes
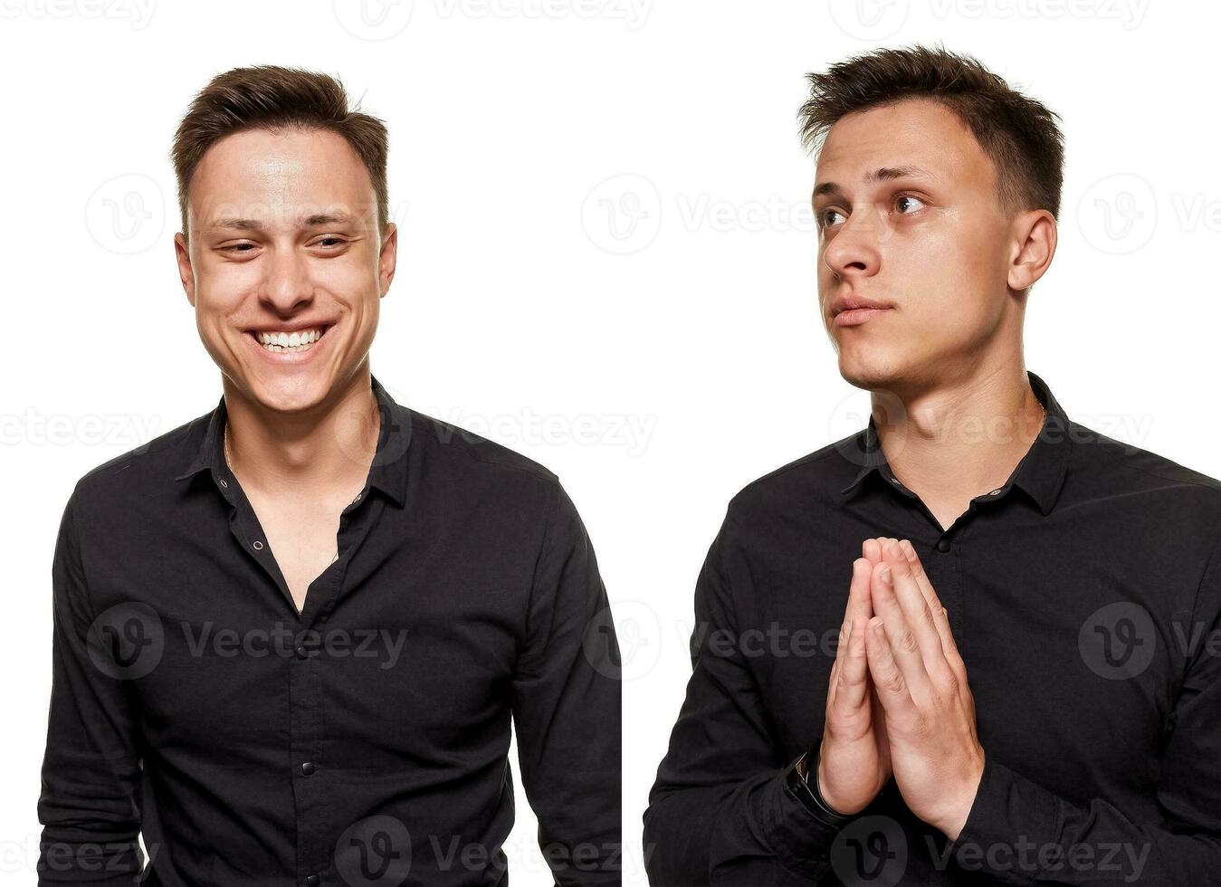
[[[190,178],[190,213],[271,221],[305,213],[374,211],[369,171],[342,136],[325,130],[249,130],[211,145]]]

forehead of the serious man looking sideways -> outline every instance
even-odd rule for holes
[[[938,101],[907,99],[847,114],[827,133],[818,183],[844,188],[880,167],[918,166],[945,183],[989,187],[991,160],[971,128]]]

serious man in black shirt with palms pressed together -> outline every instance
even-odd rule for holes
[[[652,883],[1221,883],[1221,483],[1026,370],[1055,115],[943,49],[811,83],[819,307],[871,418],[729,503]]]

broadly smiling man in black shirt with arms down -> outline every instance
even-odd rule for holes
[[[557,883],[618,885],[618,646],[557,478],[370,374],[387,133],[228,71],[173,144],[216,408],[60,527],[39,883],[503,885],[508,759]],[[402,335],[402,334],[400,334]]]

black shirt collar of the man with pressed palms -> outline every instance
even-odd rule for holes
[[[1027,370],[1026,375],[1031,380],[1031,389],[1034,391],[1034,396],[1043,404],[1044,409],[1048,411],[1048,414],[1043,420],[1039,435],[1034,439],[1026,456],[1017,463],[1017,468],[1010,474],[1004,486],[994,491],[993,495],[1001,496],[1011,486],[1020,486],[1034,498],[1043,514],[1049,514],[1060,494],[1065,474],[1068,470],[1068,456],[1072,450],[1072,439],[1068,435],[1070,420],[1059,401],[1051,393],[1048,384],[1029,370]],[[866,476],[873,473],[885,478],[889,485],[904,489],[901,481],[890,470],[890,464],[886,462],[886,456],[882,450],[878,440],[878,429],[874,425],[872,415],[869,417],[868,426],[846,442],[849,444],[849,451],[842,454],[853,464],[860,465],[860,470],[857,470],[852,483],[840,490],[841,494],[846,495],[851,492]],[[905,492],[915,495],[906,490]]]

